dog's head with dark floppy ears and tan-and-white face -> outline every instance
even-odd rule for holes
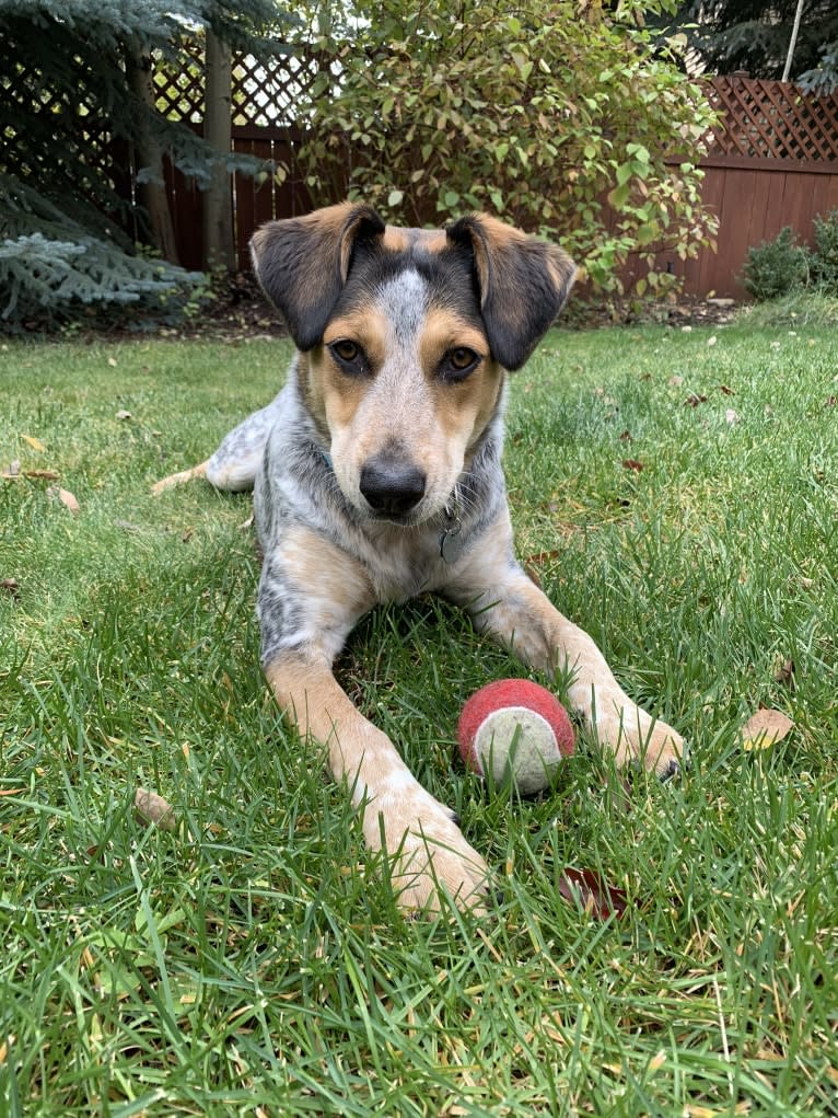
[[[400,229],[349,202],[269,222],[251,252],[342,492],[406,524],[445,506],[504,370],[530,357],[574,275],[560,248],[492,217]]]

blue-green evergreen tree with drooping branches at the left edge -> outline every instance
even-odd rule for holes
[[[166,120],[132,67],[185,66],[184,42],[208,27],[234,48],[274,53],[280,19],[276,0],[0,0],[0,329],[83,304],[171,306],[201,278],[135,255],[135,240],[154,239],[126,198],[130,146],[158,153],[140,183],[160,181],[161,152],[202,188],[219,161],[258,164]]]

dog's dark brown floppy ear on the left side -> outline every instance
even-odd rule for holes
[[[310,350],[323,338],[346,283],[355,241],[383,231],[384,222],[371,206],[352,202],[268,221],[256,230],[250,240],[254,271],[297,349]]]

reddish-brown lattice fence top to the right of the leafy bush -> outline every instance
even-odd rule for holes
[[[707,96],[723,114],[713,154],[838,161],[836,97],[809,97],[790,83],[745,77],[716,77]]]

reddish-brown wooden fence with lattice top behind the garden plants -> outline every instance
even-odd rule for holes
[[[241,267],[248,266],[253,230],[270,218],[291,217],[312,208],[312,198],[296,163],[299,133],[294,104],[316,73],[316,60],[277,59],[273,65],[239,59],[234,69],[232,142],[236,152],[286,164],[287,178],[257,186],[237,174],[234,180],[236,244]],[[190,73],[160,70],[155,76],[159,107],[200,127],[200,66]],[[838,98],[811,98],[797,86],[742,76],[716,77],[707,95],[721,113],[720,126],[707,138],[701,159],[703,201],[718,218],[717,252],[702,249],[694,260],[680,260],[661,249],[657,266],[678,275],[693,296],[742,297],[739,275],[749,246],[773,239],[784,226],[811,243],[812,219],[838,209]],[[201,265],[201,192],[177,172],[169,180],[181,263]],[[640,274],[629,260],[628,284]]]

